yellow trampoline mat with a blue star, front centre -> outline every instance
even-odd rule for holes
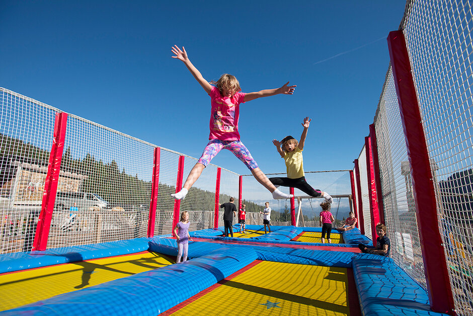
[[[346,268],[263,261],[173,315],[349,315]]]

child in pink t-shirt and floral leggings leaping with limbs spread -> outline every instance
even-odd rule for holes
[[[187,56],[187,52],[174,45],[172,51],[177,58],[184,62],[187,69],[191,72],[197,82],[204,88],[211,99],[211,115],[210,115],[210,136],[209,143],[204,149],[199,161],[194,165],[189,176],[184,183],[180,192],[171,196],[176,200],[183,199],[189,189],[199,178],[202,170],[210,163],[213,157],[222,149],[230,150],[237,158],[239,158],[251,170],[254,177],[263,184],[273,195],[273,199],[289,199],[292,195],[284,194],[279,191],[268,177],[260,170],[258,164],[253,159],[250,151],[240,141],[240,133],[238,132],[238,118],[240,115],[240,104],[261,97],[268,97],[276,94],[292,94],[296,86],[287,86],[289,82],[278,89],[261,90],[259,92],[242,93],[240,84],[232,75],[223,74],[217,82],[207,82],[197,68]]]

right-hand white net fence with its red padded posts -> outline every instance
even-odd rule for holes
[[[354,169],[364,233],[384,222],[390,257],[459,315],[473,313],[472,30],[469,1],[408,1]]]

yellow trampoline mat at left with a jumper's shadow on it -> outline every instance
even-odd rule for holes
[[[0,275],[0,310],[168,266],[174,261],[151,252],[81,261]]]

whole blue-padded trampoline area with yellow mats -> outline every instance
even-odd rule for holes
[[[181,264],[170,237],[2,255],[0,315],[439,314],[392,259],[359,253],[359,231],[343,233],[347,244],[292,240],[311,230],[192,232]]]

